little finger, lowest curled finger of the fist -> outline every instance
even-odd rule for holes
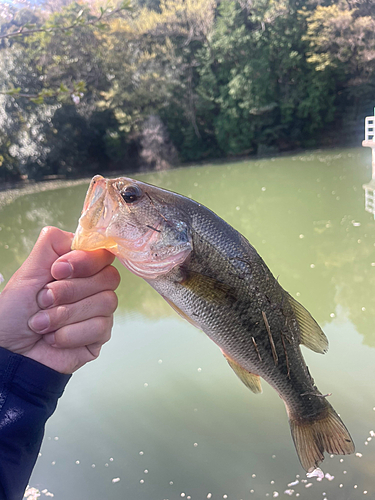
[[[92,346],[90,353],[99,355],[100,347],[111,338],[113,315],[90,318],[86,321],[63,326],[43,339],[47,344],[61,349]]]

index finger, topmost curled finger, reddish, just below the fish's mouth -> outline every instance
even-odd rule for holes
[[[56,280],[66,278],[86,278],[93,276],[112,264],[114,255],[107,250],[72,250],[52,265],[51,273]]]

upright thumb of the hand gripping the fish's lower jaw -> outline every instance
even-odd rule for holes
[[[42,288],[53,281],[51,266],[61,255],[70,251],[72,240],[72,233],[56,227],[43,228],[29,257],[16,274],[20,274],[22,280],[27,280],[29,284],[31,281],[39,289]]]

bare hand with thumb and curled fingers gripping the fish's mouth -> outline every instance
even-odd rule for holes
[[[0,294],[0,346],[61,373],[97,358],[110,339],[120,282],[111,253],[70,251],[72,239],[44,228]]]

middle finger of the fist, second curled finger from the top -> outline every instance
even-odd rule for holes
[[[104,290],[116,290],[120,283],[120,274],[113,266],[89,278],[72,278],[48,283],[37,296],[41,309],[61,304],[72,304]]]

